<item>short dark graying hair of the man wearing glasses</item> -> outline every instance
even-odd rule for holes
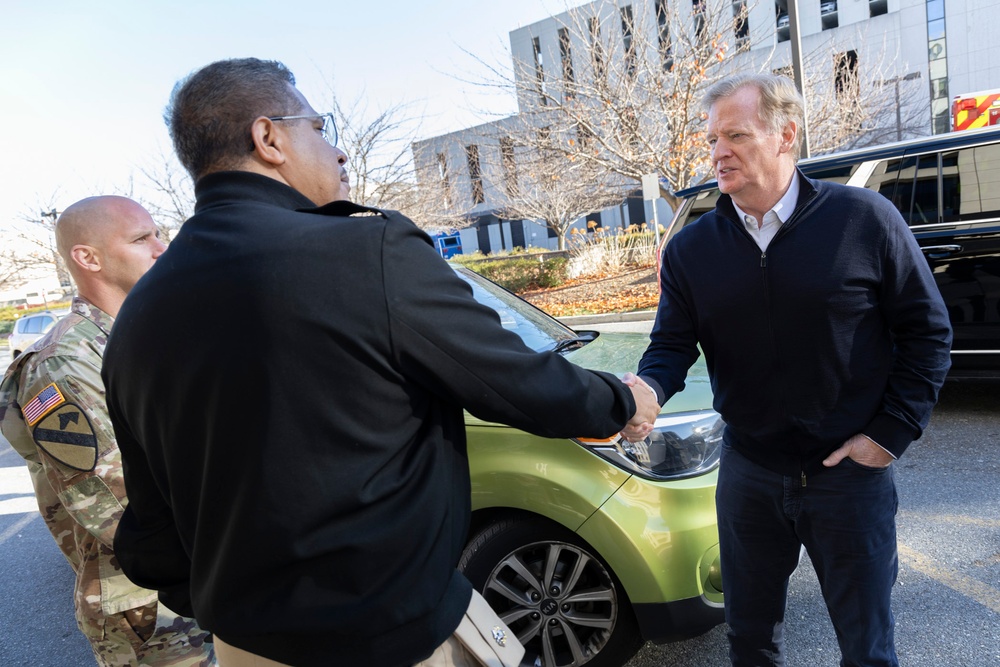
[[[179,81],[163,118],[191,178],[239,168],[253,152],[254,120],[301,110],[294,85],[283,64],[256,58],[220,60]]]

